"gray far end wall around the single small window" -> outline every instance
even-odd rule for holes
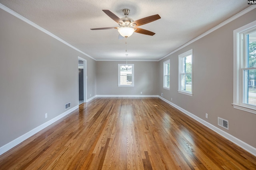
[[[118,64],[124,63],[96,62],[97,95],[158,95],[158,62],[128,61],[134,64],[134,87],[118,87]]]

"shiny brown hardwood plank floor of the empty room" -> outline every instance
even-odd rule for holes
[[[256,170],[256,157],[158,98],[96,98],[2,154],[0,169]]]

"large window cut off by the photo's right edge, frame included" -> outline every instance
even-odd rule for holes
[[[256,114],[256,21],[234,30],[233,89],[234,108]]]

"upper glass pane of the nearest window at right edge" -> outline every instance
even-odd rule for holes
[[[246,35],[247,67],[256,67],[256,31]]]

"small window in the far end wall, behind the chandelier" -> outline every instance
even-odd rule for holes
[[[134,64],[118,64],[118,86],[134,86]]]

